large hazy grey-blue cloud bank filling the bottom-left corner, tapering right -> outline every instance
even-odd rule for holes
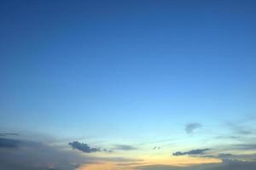
[[[4,170],[70,170],[92,158],[70,150],[24,139],[1,139],[0,169]]]

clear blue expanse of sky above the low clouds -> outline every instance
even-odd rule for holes
[[[119,138],[139,128],[165,139],[187,122],[253,114],[255,8],[1,1],[0,127]]]

